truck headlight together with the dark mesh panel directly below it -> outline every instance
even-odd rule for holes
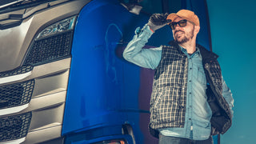
[[[43,29],[30,45],[23,66],[38,66],[69,58],[76,18],[66,18]]]

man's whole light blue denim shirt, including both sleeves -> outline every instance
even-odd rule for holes
[[[133,40],[128,43],[124,50],[123,57],[138,66],[156,69],[162,58],[162,46],[142,49],[152,34],[153,32],[147,25],[142,30],[137,28]],[[202,56],[198,48],[191,55],[187,54],[186,49],[182,47],[181,50],[188,58],[186,123],[183,128],[165,128],[159,131],[166,136],[205,140],[210,136],[211,110],[208,102],[206,102],[206,76],[202,67]],[[231,109],[234,106],[234,99],[226,83],[224,81],[222,83],[223,97],[226,98]]]

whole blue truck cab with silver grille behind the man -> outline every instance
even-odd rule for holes
[[[0,2],[0,144],[150,144],[154,70],[122,58],[153,13],[193,10],[211,50],[206,0]],[[168,26],[149,46],[172,40]]]

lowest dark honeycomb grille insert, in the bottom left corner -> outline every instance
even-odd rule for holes
[[[0,118],[0,142],[26,137],[32,113]]]

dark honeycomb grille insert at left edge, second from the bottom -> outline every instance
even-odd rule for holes
[[[29,103],[33,89],[34,80],[0,86],[0,109]]]

